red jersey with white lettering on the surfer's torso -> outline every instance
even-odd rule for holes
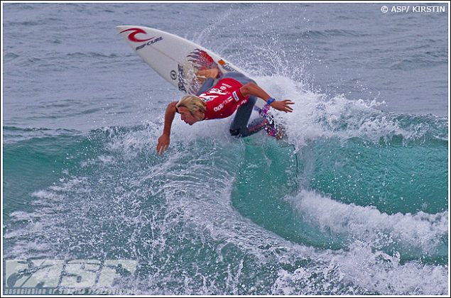
[[[244,97],[241,94],[241,87],[243,85],[236,79],[227,77],[200,94],[200,99],[207,105],[205,120],[227,118],[234,114],[241,104],[246,104],[249,96]]]

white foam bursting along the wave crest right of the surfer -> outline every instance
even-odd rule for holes
[[[377,143],[393,136],[414,140],[428,133],[427,124],[406,126],[400,122],[399,115],[380,111],[379,106],[384,105],[384,101],[350,100],[344,94],[330,97],[311,92],[300,82],[280,75],[256,80],[276,99],[295,102],[293,113],[272,111],[278,122],[286,124],[288,138],[298,148],[317,138],[362,138]]]

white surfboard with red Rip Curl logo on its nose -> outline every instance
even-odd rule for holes
[[[223,73],[241,72],[246,75],[219,55],[177,35],[143,26],[116,28],[153,70],[186,94],[195,94],[201,87],[195,76],[198,70],[219,67]],[[261,107],[264,101],[257,103]]]

